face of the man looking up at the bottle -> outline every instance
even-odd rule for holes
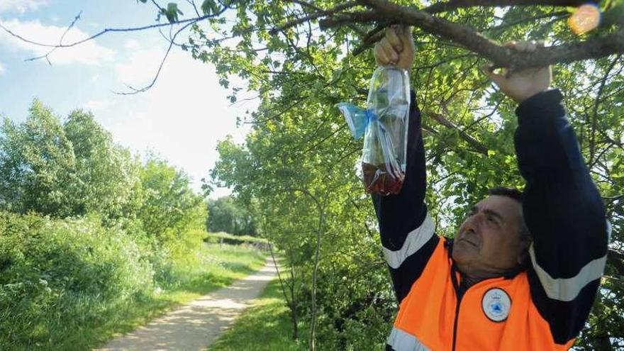
[[[486,278],[520,264],[522,206],[507,196],[492,195],[472,207],[455,237],[452,257],[460,271]]]

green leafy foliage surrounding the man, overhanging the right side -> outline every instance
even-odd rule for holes
[[[621,25],[603,22],[596,31],[579,36],[568,26],[574,10],[547,6],[563,3],[535,1],[544,6],[494,11],[474,5],[495,6],[496,1],[450,1],[446,7],[434,4],[425,11],[416,1],[400,1],[413,7],[394,8],[397,11],[392,13],[384,8],[390,6],[386,1],[235,1],[231,4],[237,10],[234,22],[218,18],[210,20],[209,28],[194,26],[189,51],[216,66],[224,87],[232,89],[231,99],[238,99],[242,91],[230,87],[232,75],[246,79],[249,89],[259,92],[260,108],[246,117],[252,133],[245,145],[230,140],[219,145],[221,160],[212,176],[217,184],[230,186],[240,199],[257,201],[262,235],[284,250],[294,266],[299,299],[289,301],[296,300],[298,316],[312,324],[311,349],[314,339],[323,349],[379,348],[370,341],[384,340],[382,335],[394,315],[374,235],[374,216],[353,172],[362,145],[351,140],[333,108],[339,101],[364,104],[365,87],[374,69],[372,52],[364,49],[401,16],[403,23],[417,27],[411,79],[424,116],[428,205],[438,231],[453,235],[465,208],[490,186],[523,184],[512,143],[516,106],[490,84],[479,67],[489,62],[486,58],[516,67],[544,63],[540,60],[546,54],[496,59],[498,54],[491,56],[466,41],[447,41],[442,33],[447,23],[438,26],[440,19],[477,28],[485,38],[499,43],[546,39],[552,45],[565,45],[580,38],[585,45],[620,33]],[[565,5],[578,5],[572,3]],[[339,9],[343,4],[350,10]],[[605,1],[600,6],[607,13],[621,5]],[[425,21],[414,19],[425,16],[420,12],[434,13],[437,27],[425,28]],[[319,31],[319,24],[328,29]],[[235,40],[221,40],[228,35]],[[581,151],[613,223],[603,289],[576,347],[610,350],[624,344],[620,333],[624,325],[620,308],[624,296],[620,177],[624,148],[619,121],[624,62],[618,52],[591,61],[559,62],[563,63],[554,67],[554,86],[564,93]],[[320,199],[321,206],[314,199]],[[317,243],[321,243],[318,251]],[[318,279],[313,278],[315,272]],[[315,289],[318,294],[313,293]],[[318,335],[313,334],[316,318],[323,321]],[[358,340],[369,342],[361,345]]]

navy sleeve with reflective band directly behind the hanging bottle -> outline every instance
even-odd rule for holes
[[[420,110],[412,91],[403,188],[397,195],[372,195],[379,221],[381,249],[389,264],[399,302],[420,277],[439,240],[434,235],[434,223],[424,202],[425,150],[420,126]]]

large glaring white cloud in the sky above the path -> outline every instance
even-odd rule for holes
[[[165,49],[135,50],[127,62],[116,65],[118,90],[143,87],[154,77]],[[184,169],[201,188],[218,153],[216,143],[233,135],[244,141],[249,127],[237,128],[236,116],[253,110],[257,102],[230,106],[228,92],[218,85],[211,65],[193,60],[188,52],[172,51],[152,89],[133,96],[111,96],[96,118],[118,143],[142,152],[155,150],[172,165]],[[237,86],[240,86],[237,85]],[[92,105],[93,106],[93,105]],[[214,196],[227,194],[218,189]]]

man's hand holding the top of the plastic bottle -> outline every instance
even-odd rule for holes
[[[412,28],[392,26],[386,28],[386,36],[375,45],[375,61],[377,65],[395,65],[410,72],[415,52]]]

